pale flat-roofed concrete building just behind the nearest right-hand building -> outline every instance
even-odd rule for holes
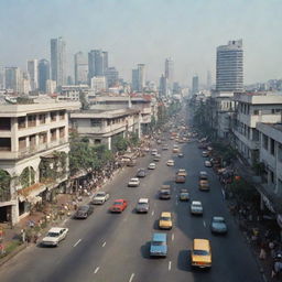
[[[235,145],[242,156],[254,164],[259,160],[258,122],[281,122],[282,95],[236,94],[236,116],[234,121]]]

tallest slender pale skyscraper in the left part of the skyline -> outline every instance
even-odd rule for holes
[[[66,43],[63,37],[51,40],[51,77],[57,86],[66,83]]]

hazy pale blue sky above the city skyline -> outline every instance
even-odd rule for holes
[[[175,80],[194,74],[215,82],[216,47],[243,40],[245,83],[282,78],[282,0],[0,0],[0,65],[50,59],[50,39],[63,36],[73,54],[109,52],[109,65],[131,78],[138,63],[159,83],[165,57]]]

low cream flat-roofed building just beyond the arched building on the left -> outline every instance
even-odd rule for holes
[[[128,137],[130,132],[140,138],[140,111],[137,109],[79,110],[70,112],[72,129],[80,137],[89,138],[95,144],[112,149],[115,138]]]

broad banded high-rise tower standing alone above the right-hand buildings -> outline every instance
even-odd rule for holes
[[[229,41],[228,45],[217,47],[216,90],[243,90],[242,40]]]

